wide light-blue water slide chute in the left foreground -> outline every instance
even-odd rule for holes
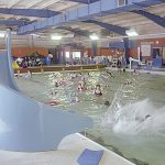
[[[20,92],[9,58],[7,53],[0,55],[0,150],[55,150],[66,135],[92,127],[88,117],[40,103]]]

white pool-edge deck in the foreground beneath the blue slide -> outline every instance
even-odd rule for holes
[[[103,150],[99,165],[134,165],[98,143],[75,133],[66,136],[57,151],[19,153],[0,151],[1,165],[78,165],[77,160],[85,148]]]

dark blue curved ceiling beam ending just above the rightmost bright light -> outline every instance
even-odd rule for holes
[[[125,28],[122,28],[122,26],[119,26],[119,25],[112,25],[112,24],[109,24],[109,23],[105,23],[105,22],[99,22],[97,20],[87,20],[87,21],[82,21],[85,23],[94,23],[94,24],[97,24],[101,28],[105,28],[106,30],[109,30],[111,32],[114,32],[114,33],[118,33],[120,35],[127,35],[125,34]]]

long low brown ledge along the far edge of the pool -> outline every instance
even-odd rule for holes
[[[88,69],[101,69],[106,68],[106,65],[59,65],[59,66],[38,66],[28,68],[16,68],[14,74],[28,73],[44,73],[44,72],[64,72],[64,70],[88,70]]]

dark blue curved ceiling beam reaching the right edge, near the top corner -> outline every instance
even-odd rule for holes
[[[156,14],[150,13],[147,11],[143,11],[143,10],[133,10],[131,12],[143,15],[143,16],[147,18],[148,20],[152,20],[156,24],[165,28],[165,19],[161,18],[160,15],[156,15]]]

